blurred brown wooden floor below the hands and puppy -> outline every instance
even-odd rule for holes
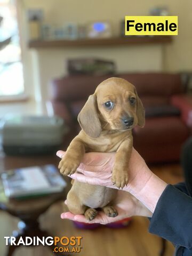
[[[183,180],[181,167],[178,164],[151,166],[160,178],[168,183]],[[161,238],[148,233],[147,218],[134,217],[129,227],[110,229],[105,226],[95,230],[78,230],[68,220],[61,220],[60,213],[64,204],[58,203],[41,217],[42,228],[47,229],[52,236],[82,236],[82,251],[76,255],[82,256],[156,256],[159,255]],[[0,255],[6,251],[4,236],[10,236],[17,229],[17,219],[6,213],[0,213]],[[174,247],[167,243],[165,256],[173,255]],[[54,253],[57,255],[57,253]],[[51,256],[49,249],[43,246],[21,247],[14,256]],[[67,255],[67,254],[66,254]],[[72,254],[75,255],[75,254]]]

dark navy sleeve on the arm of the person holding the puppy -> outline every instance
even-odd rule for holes
[[[149,232],[175,245],[192,247],[192,198],[185,194],[185,183],[167,185],[159,198]]]

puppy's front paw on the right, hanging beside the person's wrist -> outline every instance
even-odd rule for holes
[[[116,170],[112,172],[111,181],[118,188],[123,188],[128,184],[128,171]]]

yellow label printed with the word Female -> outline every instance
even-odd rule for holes
[[[178,35],[178,16],[125,16],[125,35]]]

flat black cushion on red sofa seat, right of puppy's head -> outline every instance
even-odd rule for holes
[[[180,110],[171,105],[151,106],[145,108],[146,117],[158,117],[158,116],[179,116]]]

